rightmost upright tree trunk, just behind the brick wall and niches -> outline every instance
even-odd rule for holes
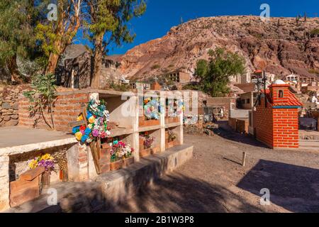
[[[103,35],[97,36],[94,43],[95,43],[95,51],[94,51],[94,58],[93,58],[91,88],[99,89],[101,64],[102,64],[102,56],[103,56]]]

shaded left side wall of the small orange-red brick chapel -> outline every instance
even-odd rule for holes
[[[273,148],[273,109],[269,104],[265,108],[264,99],[262,104],[256,107],[256,111],[252,111],[252,122],[257,140]]]

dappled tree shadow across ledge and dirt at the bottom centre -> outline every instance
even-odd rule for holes
[[[175,174],[157,179],[119,204],[103,198],[101,192],[91,195],[73,196],[40,212],[262,212],[224,187]]]

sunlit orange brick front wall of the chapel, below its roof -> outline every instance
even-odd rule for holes
[[[274,148],[298,148],[298,109],[274,109]]]

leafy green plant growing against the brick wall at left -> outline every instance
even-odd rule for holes
[[[40,114],[40,116],[43,116],[45,123],[52,129],[55,129],[52,112],[53,102],[56,97],[55,82],[54,74],[38,74],[33,77],[31,82],[33,90],[23,92],[23,95],[30,101],[29,111],[31,116]],[[45,109],[50,113],[51,122],[47,121]]]

